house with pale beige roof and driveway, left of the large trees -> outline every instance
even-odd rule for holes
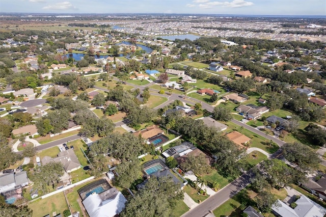
[[[41,161],[43,165],[46,165],[48,162],[52,161],[61,162],[67,173],[78,170],[80,167],[82,167],[73,149],[59,152],[58,157],[55,158],[45,156]]]

